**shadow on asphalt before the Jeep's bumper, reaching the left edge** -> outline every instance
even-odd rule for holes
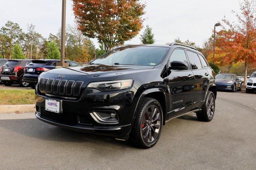
[[[43,123],[37,119],[0,120],[0,128],[46,141],[94,143],[98,145],[106,145],[108,143],[110,145],[132,147],[125,142],[117,141],[111,137],[71,131]]]

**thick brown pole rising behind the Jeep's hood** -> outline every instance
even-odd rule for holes
[[[66,0],[62,0],[62,21],[61,21],[61,47],[60,47],[60,63],[56,63],[56,66],[68,66],[65,63],[65,31],[66,31]]]

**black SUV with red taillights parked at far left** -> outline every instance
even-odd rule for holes
[[[30,63],[31,60],[8,60],[0,70],[0,80],[6,86],[12,84],[20,84],[22,87],[27,87],[29,84],[24,82],[24,67]]]

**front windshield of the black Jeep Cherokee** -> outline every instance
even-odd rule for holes
[[[106,53],[92,64],[156,66],[160,64],[168,49],[168,47],[123,47]]]

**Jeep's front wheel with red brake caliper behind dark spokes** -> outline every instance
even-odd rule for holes
[[[134,126],[129,136],[132,145],[139,148],[150,148],[160,138],[163,125],[163,111],[154,98],[144,98],[138,111]]]

